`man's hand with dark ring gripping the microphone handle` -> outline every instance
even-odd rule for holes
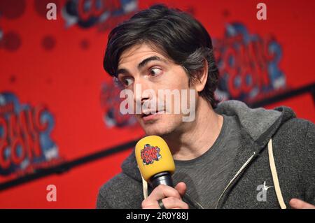
[[[175,188],[159,185],[153,189],[150,196],[142,201],[141,206],[144,209],[160,209],[158,200],[162,199],[166,209],[188,209],[188,204],[181,199],[185,193],[186,184],[184,182],[179,182]]]

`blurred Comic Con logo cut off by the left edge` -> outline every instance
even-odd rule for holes
[[[57,161],[53,127],[44,106],[21,104],[15,94],[0,93],[0,175],[25,174]]]

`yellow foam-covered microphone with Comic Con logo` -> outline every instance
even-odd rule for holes
[[[158,185],[174,187],[172,180],[175,171],[174,159],[163,138],[160,136],[141,138],[134,152],[142,177],[153,188]]]

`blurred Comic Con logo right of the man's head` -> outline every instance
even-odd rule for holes
[[[251,101],[286,87],[279,69],[281,45],[272,36],[250,34],[244,24],[232,23],[224,38],[214,40],[214,49],[221,73],[219,97]]]

